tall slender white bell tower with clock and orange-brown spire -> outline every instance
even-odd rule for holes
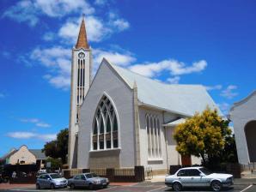
[[[92,53],[88,46],[84,15],[78,39],[72,49],[71,84],[70,84],[70,126],[68,164],[77,167],[77,143],[80,119],[80,107],[91,84]]]

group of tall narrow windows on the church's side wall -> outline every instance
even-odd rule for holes
[[[161,128],[159,118],[155,115],[146,115],[146,129],[148,136],[148,157],[159,159],[162,157]]]

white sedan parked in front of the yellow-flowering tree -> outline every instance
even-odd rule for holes
[[[180,191],[183,187],[210,187],[214,191],[219,191],[222,187],[233,184],[233,175],[212,173],[201,166],[186,167],[174,175],[167,176],[165,184],[174,191]]]

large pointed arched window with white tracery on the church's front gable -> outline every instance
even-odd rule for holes
[[[94,116],[92,131],[92,150],[119,147],[119,124],[113,104],[103,96]]]

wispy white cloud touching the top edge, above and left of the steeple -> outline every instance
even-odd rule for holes
[[[72,13],[94,13],[94,8],[84,0],[22,0],[11,6],[3,13],[3,17],[9,17],[18,22],[26,22],[34,27],[39,21],[40,15],[49,17],[62,17]]]

